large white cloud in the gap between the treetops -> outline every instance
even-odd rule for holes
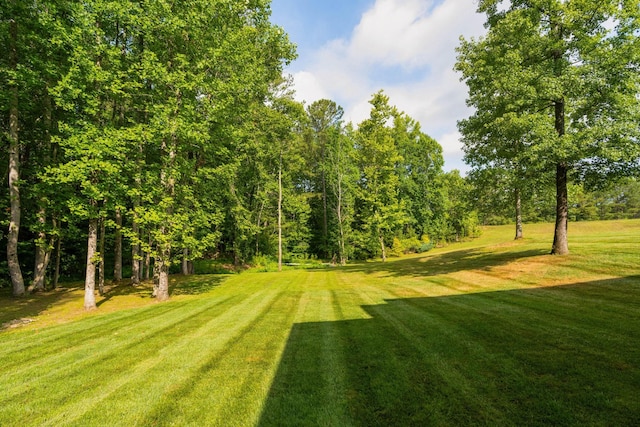
[[[359,123],[369,115],[371,95],[384,89],[443,145],[446,169],[464,167],[456,122],[469,110],[466,86],[453,71],[455,47],[460,35],[483,34],[483,22],[469,0],[376,0],[348,40],[333,40],[294,64],[297,98],[332,99],[347,121]]]

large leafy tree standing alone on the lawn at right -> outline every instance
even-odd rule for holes
[[[478,11],[487,36],[458,49],[476,108],[461,132],[469,152],[487,144],[514,159],[501,147],[520,141],[528,164],[555,172],[551,252],[566,254],[570,172],[638,167],[638,1],[483,0]]]

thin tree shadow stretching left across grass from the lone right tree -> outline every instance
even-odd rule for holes
[[[386,272],[391,276],[437,276],[461,270],[489,269],[524,258],[546,255],[549,251],[533,249],[525,251],[486,252],[480,249],[463,249],[424,258],[406,258],[389,262],[372,262],[340,267],[344,271],[372,274]]]

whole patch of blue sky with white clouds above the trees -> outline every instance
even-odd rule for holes
[[[297,45],[287,67],[296,98],[326,98],[345,110],[345,122],[369,116],[371,96],[419,121],[443,148],[444,169],[464,164],[458,120],[472,110],[453,70],[460,36],[484,34],[476,0],[272,0],[271,21]]]

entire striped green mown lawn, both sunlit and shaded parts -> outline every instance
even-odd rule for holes
[[[0,296],[1,426],[640,425],[640,221],[344,268]]]

